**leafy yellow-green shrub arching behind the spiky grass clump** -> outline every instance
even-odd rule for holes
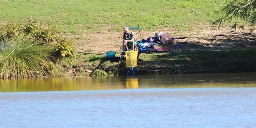
[[[73,42],[56,35],[52,29],[43,28],[37,21],[28,22],[9,22],[0,28],[0,40],[15,38],[15,36],[26,36],[31,40],[38,41],[38,45],[47,45],[53,47],[52,53],[57,58],[73,57]]]

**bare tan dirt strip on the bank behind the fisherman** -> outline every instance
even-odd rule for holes
[[[244,28],[244,31],[231,31],[230,28],[216,28],[210,26],[197,26],[196,28],[183,31],[176,28],[161,28],[157,31],[170,33],[173,37],[187,37],[179,40],[183,50],[229,50],[244,49],[256,47],[256,34],[250,33],[250,28]],[[137,30],[135,32],[137,40],[142,40],[154,36],[157,31],[140,30],[141,36]],[[98,33],[88,33],[81,35],[63,35],[74,41],[76,51],[83,52],[92,49],[94,53],[105,53],[107,51],[116,51],[122,46],[122,32],[111,31],[109,28],[103,28]],[[170,50],[173,45],[165,45],[166,50]],[[157,46],[159,47],[159,46]]]

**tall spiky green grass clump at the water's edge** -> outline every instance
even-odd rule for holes
[[[16,36],[0,44],[0,78],[57,76],[50,61],[51,48]]]

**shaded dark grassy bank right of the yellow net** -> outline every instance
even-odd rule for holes
[[[148,54],[140,69],[169,73],[237,73],[256,71],[256,49],[228,51],[190,51]]]

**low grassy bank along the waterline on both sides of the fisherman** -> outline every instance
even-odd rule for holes
[[[71,62],[77,75],[125,74],[125,61],[108,61],[100,55],[78,54]],[[66,62],[66,65],[69,65]],[[65,63],[62,62],[62,65]],[[139,74],[256,72],[256,49],[228,51],[184,51],[141,54]],[[69,66],[72,67],[72,66]],[[74,74],[73,74],[74,75]]]

